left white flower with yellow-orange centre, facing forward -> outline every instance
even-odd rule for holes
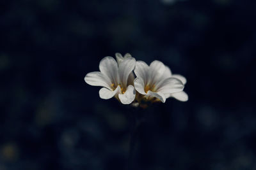
[[[100,98],[110,99],[115,96],[121,103],[130,104],[134,101],[136,91],[127,80],[135,63],[132,57],[122,57],[118,64],[113,57],[104,57],[100,61],[100,71],[86,74],[84,81],[89,85],[103,87],[99,91]]]

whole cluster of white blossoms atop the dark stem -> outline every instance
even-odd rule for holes
[[[102,87],[100,98],[116,97],[122,104],[132,103],[137,106],[147,102],[164,103],[169,97],[188,101],[188,95],[183,91],[186,78],[172,74],[163,62],[154,60],[148,66],[141,60],[136,61],[129,53],[124,57],[120,53],[115,55],[116,60],[104,57],[100,60],[100,71],[88,73],[84,77],[89,85]]]

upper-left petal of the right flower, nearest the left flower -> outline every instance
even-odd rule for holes
[[[148,83],[148,73],[149,73],[148,64],[146,64],[141,60],[136,61],[134,73],[136,74],[137,77],[142,78],[145,84]]]

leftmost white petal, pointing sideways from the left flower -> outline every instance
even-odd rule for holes
[[[89,85],[102,86],[111,89],[111,81],[109,80],[108,76],[100,73],[99,71],[86,74],[84,81]]]

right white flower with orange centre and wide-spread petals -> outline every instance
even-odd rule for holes
[[[150,66],[137,61],[134,73],[137,76],[135,89],[149,101],[157,99],[164,103],[168,97],[174,97],[175,93],[184,89],[182,80],[172,76],[170,69],[158,60],[151,62]]]

